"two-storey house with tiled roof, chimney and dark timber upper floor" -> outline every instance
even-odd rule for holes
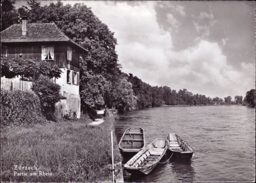
[[[72,109],[80,118],[79,59],[87,52],[55,23],[28,23],[23,17],[22,24],[14,24],[1,32],[1,55],[7,59],[35,58],[61,68],[61,78],[55,79],[55,83],[61,86],[63,98],[55,106],[56,117]]]

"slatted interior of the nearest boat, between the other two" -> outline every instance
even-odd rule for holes
[[[150,143],[143,150],[138,152],[131,160],[128,161],[130,167],[142,168],[150,166],[157,161],[166,150],[166,140],[157,139]]]

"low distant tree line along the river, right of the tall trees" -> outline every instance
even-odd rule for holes
[[[162,105],[248,105],[255,106],[255,89],[247,92],[246,97],[235,96],[224,97],[206,97],[201,94],[193,94],[187,89],[176,91],[168,86],[150,86],[144,83],[137,76],[129,74],[128,81],[132,83],[134,94],[137,97],[137,107],[143,109],[146,107],[155,107]],[[254,95],[253,95],[254,94]],[[254,97],[253,97],[254,96]]]

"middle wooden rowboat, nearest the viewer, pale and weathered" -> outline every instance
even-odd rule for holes
[[[143,174],[148,174],[157,166],[165,154],[166,149],[166,139],[157,138],[135,154],[135,156],[125,164],[124,168],[130,173],[142,172]]]

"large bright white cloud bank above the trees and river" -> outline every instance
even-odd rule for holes
[[[94,14],[115,32],[116,51],[123,72],[132,73],[153,86],[170,86],[176,90],[186,88],[194,94],[210,97],[245,96],[255,87],[255,64],[241,63],[239,71],[227,64],[222,51],[227,39],[219,45],[198,37],[192,46],[175,51],[172,35],[157,22],[156,3],[139,1],[131,6],[118,1],[86,2]],[[168,17],[170,21],[174,19],[173,14]],[[209,20],[216,22],[211,12],[200,13],[196,20],[203,21],[204,25],[195,22],[194,26],[205,36],[210,34],[207,27],[215,24]],[[179,24],[172,23],[177,29]]]

